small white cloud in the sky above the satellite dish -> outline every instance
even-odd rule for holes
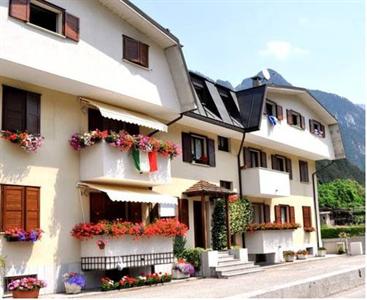
[[[277,60],[286,60],[291,56],[303,56],[308,54],[308,50],[293,46],[286,41],[269,41],[265,49],[259,50],[261,56],[274,57]]]

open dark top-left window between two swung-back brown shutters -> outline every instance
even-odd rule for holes
[[[44,29],[62,34],[64,10],[53,4],[31,0],[29,7],[29,23]]]

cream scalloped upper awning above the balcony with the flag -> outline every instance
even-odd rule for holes
[[[144,126],[164,132],[167,132],[168,130],[166,124],[163,124],[162,122],[159,122],[150,116],[95,100],[90,100],[86,98],[80,99],[88,105],[97,108],[100,111],[101,115],[105,118]]]

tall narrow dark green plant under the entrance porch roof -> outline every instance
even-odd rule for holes
[[[217,199],[212,215],[213,250],[224,250],[227,247],[227,228],[224,199]]]

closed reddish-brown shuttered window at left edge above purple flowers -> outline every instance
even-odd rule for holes
[[[40,227],[40,189],[27,186],[1,186],[1,230]]]

